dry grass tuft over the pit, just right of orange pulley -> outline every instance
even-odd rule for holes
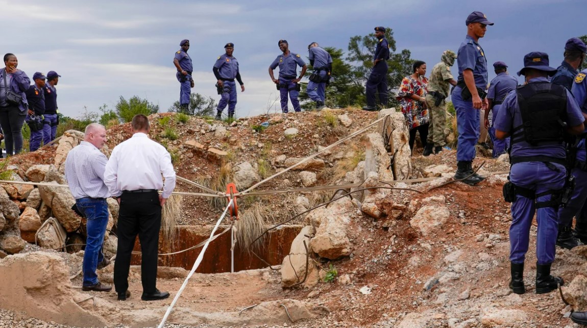
[[[256,202],[251,207],[241,211],[237,221],[237,243],[245,252],[259,251],[266,237],[262,236],[254,244],[252,242],[266,229],[266,218],[271,214],[269,208]]]

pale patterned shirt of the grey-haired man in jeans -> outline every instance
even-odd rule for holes
[[[104,184],[104,168],[108,158],[87,141],[69,151],[65,159],[65,178],[73,198],[110,197]]]

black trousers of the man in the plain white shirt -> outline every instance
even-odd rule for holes
[[[124,193],[118,215],[118,249],[114,262],[114,288],[117,293],[129,288],[130,257],[134,241],[141,243],[141,282],[143,293],[157,289],[157,255],[161,229],[161,205],[157,191]]]

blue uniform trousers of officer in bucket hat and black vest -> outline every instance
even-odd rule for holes
[[[565,185],[566,171],[560,164],[552,164],[558,171],[551,170],[542,162],[522,162],[512,165],[510,181],[519,187],[535,190],[537,194],[549,190],[560,190]],[[551,195],[538,197],[536,201],[516,195],[512,203],[512,223],[510,226],[510,261],[524,263],[528,251],[530,226],[535,212],[538,221],[536,237],[536,257],[538,264],[546,265],[554,261],[556,234],[558,233],[558,208],[536,208],[536,202],[549,201]]]

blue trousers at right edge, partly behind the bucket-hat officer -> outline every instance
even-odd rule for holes
[[[585,161],[585,139],[579,142],[577,160]],[[558,210],[558,224],[559,226],[568,226],[570,228],[573,223],[573,217],[576,215],[577,222],[575,228],[581,234],[587,235],[587,229],[585,229],[587,207],[583,205],[587,200],[587,171],[575,167],[571,171],[571,174],[575,177],[575,190],[566,207],[561,207]]]

